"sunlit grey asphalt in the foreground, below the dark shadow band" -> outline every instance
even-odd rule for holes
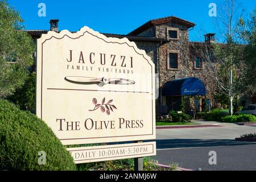
[[[208,162],[210,151],[216,152],[216,164]],[[256,144],[158,150],[156,159],[193,170],[256,170]]]

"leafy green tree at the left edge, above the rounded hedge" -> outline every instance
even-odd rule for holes
[[[18,11],[0,0],[0,98],[24,84],[34,61],[35,46],[22,23]]]

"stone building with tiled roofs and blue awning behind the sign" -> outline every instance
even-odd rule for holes
[[[50,21],[51,31],[59,31],[58,22],[57,19]],[[156,113],[181,110],[182,102],[186,112],[202,111],[207,105],[211,108],[216,107],[213,98],[214,81],[210,80],[207,73],[205,73],[203,59],[197,56],[196,53],[194,54],[191,49],[191,44],[200,43],[189,42],[189,30],[192,30],[195,25],[195,23],[187,20],[168,16],[150,20],[127,35],[104,34],[114,38],[126,37],[135,42],[138,48],[144,49],[154,61],[155,73],[159,80],[156,82],[159,90],[159,97],[156,100]],[[27,32],[36,40],[42,34],[46,34],[48,30],[27,30]],[[214,34],[207,34],[205,41],[209,44],[214,41]],[[195,79],[188,80],[188,78]],[[175,81],[175,88],[172,86],[165,88],[167,83],[172,85]],[[184,89],[185,82],[192,83],[192,81],[195,81],[195,84],[201,83],[199,87],[203,86],[203,89],[205,86],[204,92],[196,93],[198,90],[188,90],[188,87],[185,87],[185,90],[179,90]],[[191,84],[194,89],[198,88],[198,85],[195,84]],[[171,93],[175,89],[178,89],[179,93]],[[184,94],[185,92],[188,94]]]

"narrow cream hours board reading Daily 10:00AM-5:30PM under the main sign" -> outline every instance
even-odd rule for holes
[[[156,155],[156,142],[67,148],[76,164]]]

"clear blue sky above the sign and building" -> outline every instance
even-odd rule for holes
[[[189,32],[189,39],[199,40],[198,31],[214,32],[213,18],[208,15],[209,3],[217,8],[224,0],[144,0],[144,1],[53,1],[53,0],[9,0],[24,19],[27,30],[48,30],[50,19],[60,19],[59,29],[77,31],[83,26],[112,34],[127,34],[150,19],[174,15],[196,23]],[[38,4],[46,4],[46,17],[38,16]],[[242,6],[250,12],[256,6],[255,0],[241,0]],[[217,11],[218,13],[218,11]]]

